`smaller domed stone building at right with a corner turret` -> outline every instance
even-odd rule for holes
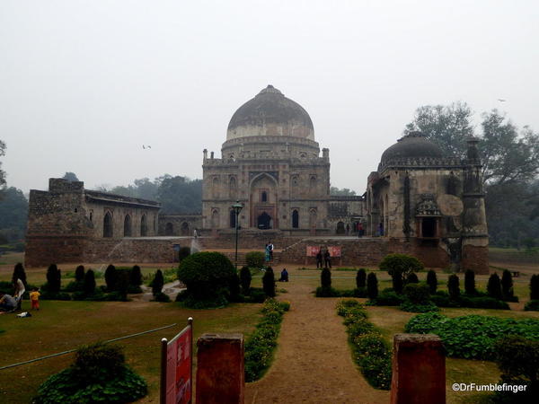
[[[464,159],[420,132],[382,154],[367,184],[367,233],[389,239],[429,267],[488,273],[488,232],[477,140]],[[396,248],[398,245],[402,248]]]

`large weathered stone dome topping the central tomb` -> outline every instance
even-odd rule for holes
[[[301,105],[268,85],[230,119],[226,140],[247,136],[296,136],[314,140],[313,121]]]

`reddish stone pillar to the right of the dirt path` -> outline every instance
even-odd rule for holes
[[[391,404],[445,404],[446,353],[433,334],[396,334],[393,339]]]

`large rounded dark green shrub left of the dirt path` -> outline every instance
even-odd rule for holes
[[[216,307],[228,303],[230,279],[236,271],[230,259],[218,252],[195,252],[181,261],[178,279],[187,287],[182,294],[191,307]]]

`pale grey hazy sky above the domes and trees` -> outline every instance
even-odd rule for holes
[[[331,185],[363,193],[420,105],[539,130],[538,22],[517,0],[2,0],[2,168],[25,192],[65,171],[86,188],[201,178],[202,149],[219,156],[271,83],[309,112]]]

